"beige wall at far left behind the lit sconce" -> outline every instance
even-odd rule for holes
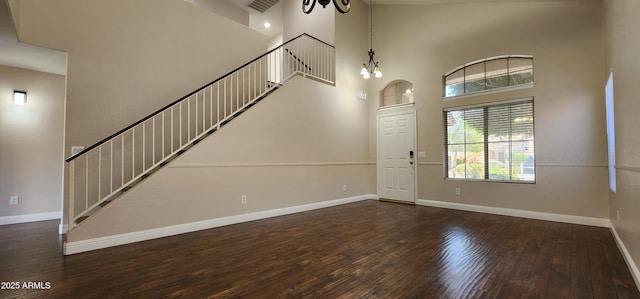
[[[0,217],[61,210],[64,88],[64,76],[0,66]]]

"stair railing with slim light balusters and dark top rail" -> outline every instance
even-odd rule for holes
[[[334,47],[302,34],[66,159],[69,229],[298,75],[333,85]]]

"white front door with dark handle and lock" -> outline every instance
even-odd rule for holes
[[[416,200],[415,111],[378,116],[378,196]]]

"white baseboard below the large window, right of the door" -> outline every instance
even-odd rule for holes
[[[416,204],[422,205],[422,206],[436,207],[436,208],[463,210],[463,211],[480,212],[480,213],[496,214],[496,215],[504,215],[504,216],[514,216],[514,217],[521,217],[521,218],[530,218],[530,219],[599,226],[599,227],[611,227],[611,222],[609,221],[609,219],[605,219],[605,218],[496,208],[496,207],[478,206],[478,205],[471,205],[471,204],[427,200],[427,199],[418,199],[416,200]]]

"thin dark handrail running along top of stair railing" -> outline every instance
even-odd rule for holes
[[[333,45],[330,45],[330,44],[328,44],[328,43],[326,43],[326,42],[324,42],[324,41],[321,41],[321,40],[317,39],[316,37],[313,37],[313,36],[311,36],[311,35],[309,35],[309,34],[306,34],[306,33],[300,34],[300,35],[298,35],[298,36],[296,36],[296,37],[294,37],[294,38],[292,38],[292,39],[290,39],[290,40],[286,41],[285,43],[283,43],[283,44],[282,44],[282,45],[280,45],[279,47],[276,47],[276,48],[274,48],[274,49],[272,49],[272,50],[270,50],[270,51],[268,51],[268,52],[266,52],[266,53],[264,53],[264,54],[262,54],[262,55],[260,55],[260,56],[256,57],[255,59],[253,59],[253,60],[251,60],[251,61],[249,61],[249,62],[247,62],[247,63],[245,63],[245,64],[243,64],[243,65],[241,65],[241,66],[239,66],[239,67],[237,67],[237,68],[235,68],[234,70],[232,70],[232,71],[230,71],[230,72],[228,72],[228,73],[226,73],[226,74],[222,75],[221,77],[219,77],[219,78],[217,78],[217,79],[215,79],[215,80],[211,81],[210,83],[205,84],[205,85],[203,85],[202,87],[200,87],[200,88],[198,88],[198,89],[194,90],[193,92],[191,92],[191,93],[187,94],[186,96],[183,96],[183,97],[181,97],[181,98],[179,98],[179,99],[177,99],[177,100],[175,100],[175,101],[171,102],[170,104],[168,104],[168,105],[166,105],[166,106],[164,106],[164,107],[162,107],[162,108],[160,108],[160,109],[156,110],[155,112],[153,112],[153,113],[151,113],[151,114],[149,114],[149,115],[147,115],[147,116],[145,116],[145,117],[141,118],[141,119],[140,119],[140,120],[138,120],[137,122],[135,122],[135,123],[133,123],[133,124],[131,124],[131,125],[129,125],[129,126],[127,126],[127,127],[125,127],[124,129],[122,129],[122,130],[120,130],[120,131],[117,131],[117,132],[115,132],[115,133],[113,133],[113,134],[109,135],[107,138],[104,138],[104,139],[102,139],[102,140],[100,140],[100,141],[96,142],[95,144],[93,144],[93,145],[91,145],[91,146],[89,146],[89,147],[86,147],[86,148],[85,148],[85,149],[83,149],[82,151],[80,151],[80,152],[78,152],[78,153],[75,153],[75,154],[73,154],[73,155],[69,156],[67,159],[65,159],[65,161],[66,161],[66,162],[71,162],[72,160],[76,159],[77,157],[82,156],[83,154],[85,154],[85,153],[89,152],[90,150],[92,150],[92,149],[94,149],[94,148],[96,148],[96,147],[98,147],[98,146],[100,146],[100,145],[102,145],[102,144],[104,144],[104,143],[108,142],[109,140],[113,139],[114,137],[117,137],[118,135],[120,135],[120,134],[122,134],[122,133],[124,133],[124,132],[126,132],[126,131],[128,131],[128,130],[131,130],[132,128],[134,128],[134,127],[136,127],[137,125],[139,125],[139,124],[141,124],[141,123],[145,122],[146,120],[149,120],[149,119],[153,118],[154,116],[156,116],[156,115],[158,115],[158,114],[162,113],[163,111],[165,111],[165,110],[167,110],[167,109],[171,108],[173,105],[175,105],[175,104],[177,104],[177,103],[179,103],[179,102],[181,102],[181,101],[183,101],[183,100],[185,100],[185,99],[187,99],[187,98],[191,97],[192,95],[194,95],[194,94],[196,94],[196,93],[198,93],[198,92],[202,91],[203,89],[205,89],[205,88],[207,88],[207,87],[211,86],[212,84],[215,84],[215,83],[219,82],[220,80],[222,80],[222,79],[224,79],[224,78],[228,77],[229,75],[231,75],[231,74],[233,74],[233,73],[235,73],[235,72],[237,72],[237,71],[241,70],[242,68],[244,68],[244,67],[246,67],[246,66],[248,66],[248,65],[250,65],[250,64],[252,64],[252,63],[254,63],[254,62],[256,62],[256,61],[258,61],[258,60],[260,60],[260,59],[262,59],[262,58],[264,58],[265,56],[267,56],[267,55],[269,55],[269,54],[271,54],[271,53],[275,52],[276,50],[278,50],[280,47],[283,47],[284,45],[289,44],[289,43],[291,43],[292,41],[294,41],[294,40],[296,40],[296,39],[298,39],[298,38],[300,38],[300,37],[302,37],[302,36],[307,36],[307,37],[309,37],[309,38],[312,38],[312,39],[314,39],[314,40],[316,40],[316,41],[318,41],[318,42],[321,42],[321,43],[323,43],[323,44],[325,44],[325,45],[327,45],[327,46],[329,46],[329,47],[331,47],[331,48],[334,48],[334,49],[335,49],[335,47],[334,47]],[[288,49],[285,49],[285,50],[286,50],[287,52],[289,52],[289,50],[288,50]],[[293,54],[292,54],[292,55],[293,55]],[[295,57],[295,55],[294,55],[294,58],[297,58],[297,57]],[[298,61],[300,61],[300,59],[298,59]],[[303,62],[301,62],[301,63],[303,63]],[[304,63],[303,63],[303,64],[304,64]],[[304,64],[304,65],[305,65],[305,67],[307,67],[307,65],[306,65],[306,64]],[[311,70],[311,68],[308,68],[308,70]]]

